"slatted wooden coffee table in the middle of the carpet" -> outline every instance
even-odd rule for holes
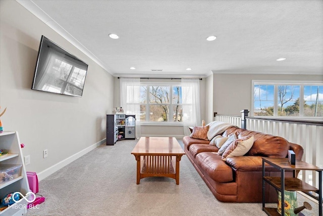
[[[137,160],[137,185],[146,177],[169,177],[180,184],[185,152],[174,137],[141,137],[131,154]]]

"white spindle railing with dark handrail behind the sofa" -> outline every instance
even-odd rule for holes
[[[299,144],[304,149],[302,160],[323,168],[322,121],[272,118],[270,116],[250,117],[246,113],[246,111],[242,113],[242,116],[216,114],[214,120],[232,123],[242,128],[243,123],[241,122],[245,121],[246,129],[283,137],[291,143]],[[302,170],[298,178],[318,188],[318,173],[316,171]]]

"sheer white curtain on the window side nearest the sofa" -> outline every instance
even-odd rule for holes
[[[200,80],[182,78],[184,134],[190,135],[188,126],[201,124]]]

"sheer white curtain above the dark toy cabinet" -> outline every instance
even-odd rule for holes
[[[127,115],[136,115],[136,138],[141,137],[140,78],[120,78],[120,106]]]

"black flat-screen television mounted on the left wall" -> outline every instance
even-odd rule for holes
[[[31,89],[82,97],[88,65],[41,35]]]

